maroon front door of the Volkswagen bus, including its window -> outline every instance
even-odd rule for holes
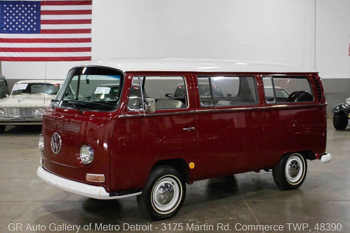
[[[179,83],[186,85],[183,102],[167,97]],[[156,161],[183,158],[188,164],[195,162],[196,155],[193,88],[187,73],[136,73],[125,85],[127,101],[114,127],[112,190],[140,187]],[[154,113],[144,112],[146,97],[155,99]],[[118,164],[118,169],[113,170],[113,164]]]

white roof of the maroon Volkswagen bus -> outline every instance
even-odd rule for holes
[[[314,73],[309,68],[261,61],[189,58],[110,58],[85,61],[78,66],[105,66],[126,71]]]

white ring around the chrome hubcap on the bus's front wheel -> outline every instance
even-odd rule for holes
[[[171,184],[173,188],[172,198],[166,204],[162,204],[157,198],[158,191],[164,184]],[[173,212],[176,209],[176,207],[180,204],[181,198],[182,198],[182,185],[180,180],[174,175],[162,176],[153,186],[152,193],[151,193],[151,203],[152,203],[153,209],[157,213],[168,214]]]

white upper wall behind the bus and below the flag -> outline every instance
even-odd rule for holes
[[[93,0],[92,14],[92,59],[272,61],[349,78],[349,0],[316,0],[316,23],[315,0]],[[63,79],[78,63],[47,62],[46,77]],[[2,61],[2,74],[44,78],[45,62]]]

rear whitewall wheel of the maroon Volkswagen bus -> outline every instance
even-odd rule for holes
[[[304,182],[307,172],[305,158],[299,153],[284,154],[272,169],[273,180],[281,189],[296,189]]]

